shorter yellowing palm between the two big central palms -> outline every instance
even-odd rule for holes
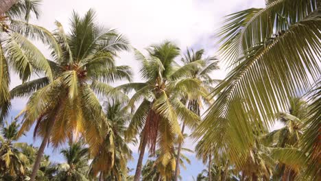
[[[128,143],[124,141],[123,134],[126,131],[125,123],[131,118],[130,112],[124,108],[126,101],[110,100],[105,103],[105,112],[110,122],[110,134],[105,138],[99,149],[99,154],[91,162],[91,172],[94,176],[99,174],[99,180],[126,180],[128,168],[127,162],[132,159],[132,151]],[[109,141],[112,138],[113,141]],[[108,143],[113,143],[112,145]],[[113,164],[110,164],[112,162]]]

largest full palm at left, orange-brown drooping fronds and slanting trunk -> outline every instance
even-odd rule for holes
[[[43,137],[31,181],[49,141],[58,147],[82,135],[91,154],[97,154],[110,129],[95,93],[102,93],[100,84],[130,80],[132,75],[129,67],[116,66],[114,60],[118,51],[128,49],[128,42],[115,30],[96,25],[93,10],[83,18],[73,13],[70,34],[64,33],[59,22],[56,25],[52,60],[46,59],[50,65],[47,77],[25,82],[11,91],[12,97],[31,95],[19,115],[23,117],[19,135],[36,122],[34,136]]]

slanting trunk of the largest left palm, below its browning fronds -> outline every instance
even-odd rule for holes
[[[45,147],[49,141],[49,137],[50,137],[55,119],[56,119],[56,117],[49,121],[47,133],[46,133],[45,137],[43,138],[43,142],[40,145],[36,160],[34,162],[34,167],[32,168],[32,175],[30,176],[30,181],[34,181],[37,176],[37,172],[40,167],[40,161],[41,161],[41,158],[43,158],[43,152],[45,151]]]

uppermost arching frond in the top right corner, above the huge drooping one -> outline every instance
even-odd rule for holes
[[[239,55],[287,30],[294,23],[305,19],[315,11],[320,2],[313,0],[278,0],[267,3],[262,9],[249,9],[227,16],[219,36],[225,43],[220,48],[230,64],[237,62]]]

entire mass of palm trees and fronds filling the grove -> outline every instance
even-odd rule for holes
[[[200,181],[321,180],[321,1],[226,16],[219,60],[169,40],[135,49],[93,10],[51,32],[29,23],[40,3],[0,3],[0,180],[176,181],[192,157]],[[134,53],[138,82],[121,51]],[[13,73],[22,83],[10,90]],[[27,104],[4,121],[16,97]],[[39,147],[22,141],[30,130]]]

